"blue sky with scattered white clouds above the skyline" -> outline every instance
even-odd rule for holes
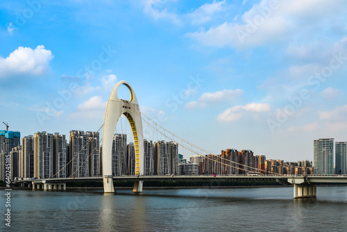
[[[125,80],[142,113],[210,153],[313,160],[313,140],[347,141],[346,9],[344,0],[1,1],[0,121],[22,137],[97,131]],[[143,126],[145,138],[165,139]]]

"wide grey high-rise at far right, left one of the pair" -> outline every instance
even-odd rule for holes
[[[333,174],[334,139],[314,140],[314,174]]]

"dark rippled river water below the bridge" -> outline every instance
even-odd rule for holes
[[[346,186],[318,187],[316,199],[293,188],[12,190],[10,209],[0,231],[347,231]]]

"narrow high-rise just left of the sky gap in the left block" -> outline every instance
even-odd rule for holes
[[[67,177],[67,141],[65,135],[54,133],[53,137],[53,177]]]

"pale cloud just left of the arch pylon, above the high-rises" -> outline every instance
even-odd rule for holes
[[[69,115],[70,119],[100,119],[105,115],[107,101],[103,101],[100,96],[94,96],[81,103],[77,107],[76,113]]]

